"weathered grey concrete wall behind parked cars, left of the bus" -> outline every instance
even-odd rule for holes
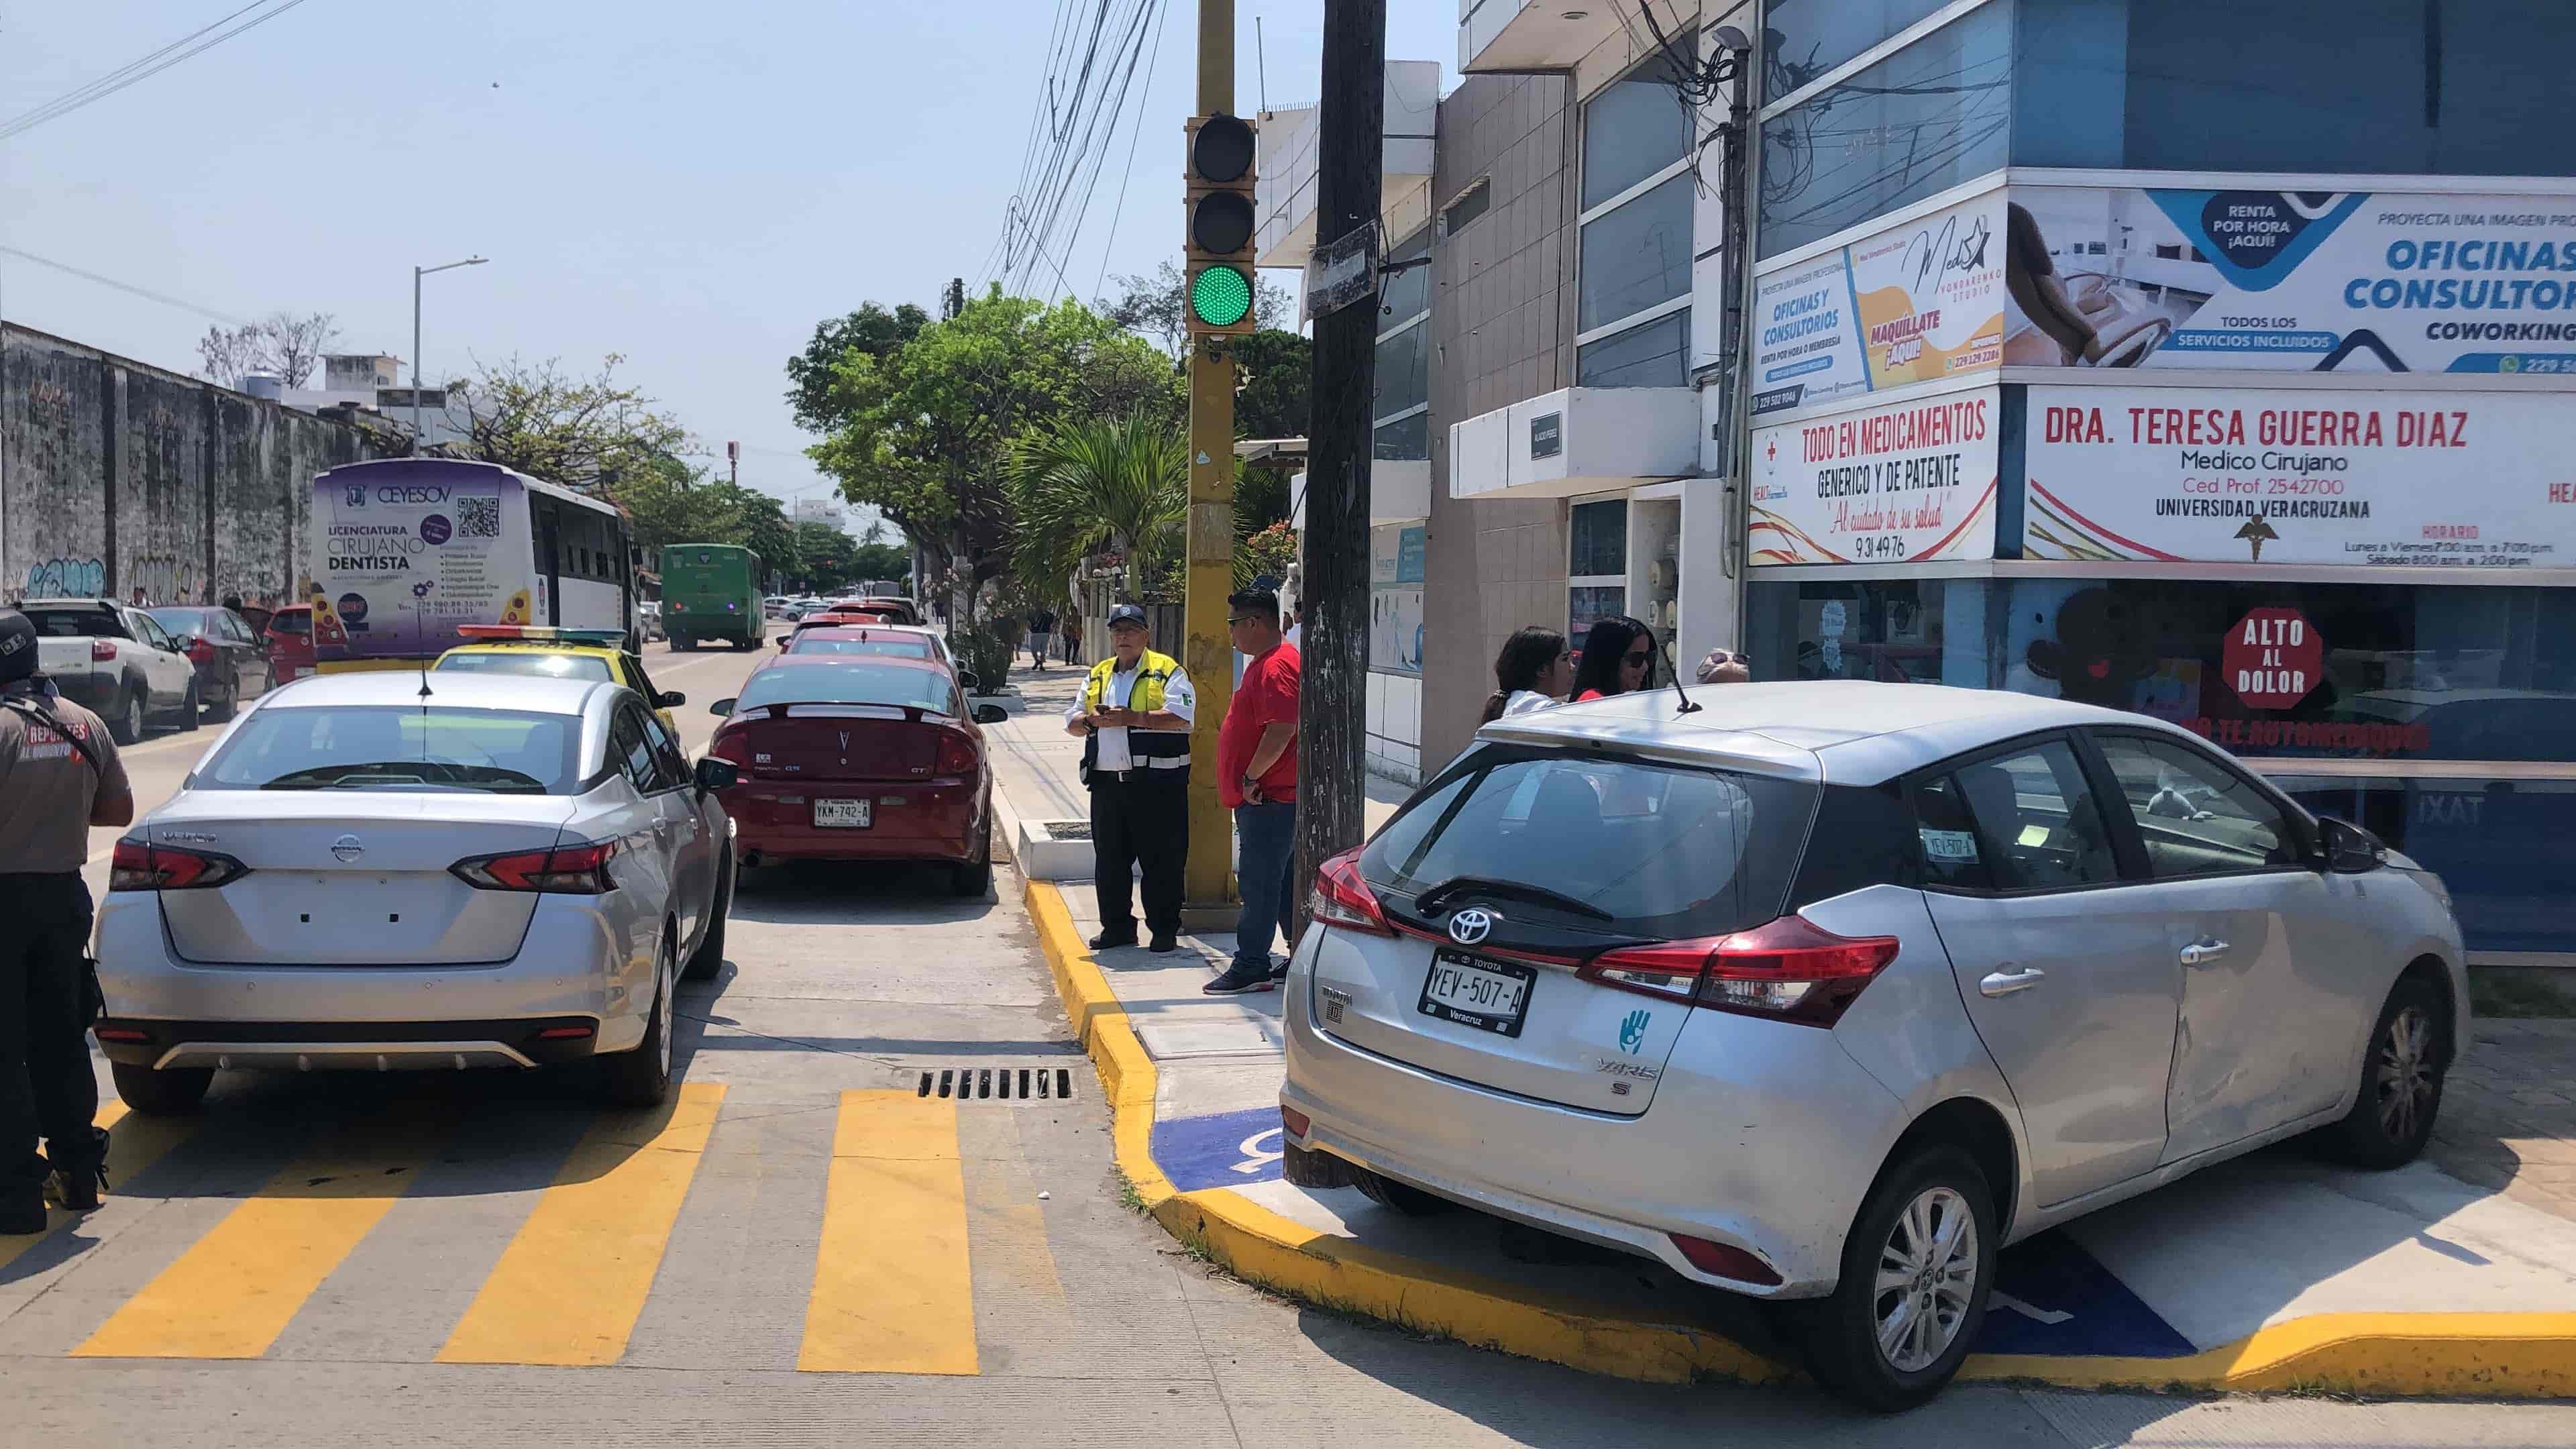
[[[312,477],[358,428],[0,327],[0,596],[299,598]]]

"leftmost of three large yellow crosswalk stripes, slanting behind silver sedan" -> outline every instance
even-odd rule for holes
[[[124,1302],[75,1359],[258,1359],[420,1181],[428,1122],[394,1109],[291,1163]]]

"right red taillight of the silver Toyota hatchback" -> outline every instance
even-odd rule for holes
[[[1834,936],[1803,915],[1783,915],[1734,936],[1602,951],[1577,975],[1713,1011],[1832,1026],[1893,959],[1896,936]]]

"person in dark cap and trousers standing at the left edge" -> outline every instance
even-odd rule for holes
[[[44,1186],[98,1207],[108,1134],[90,1075],[90,825],[129,825],[108,727],[36,676],[36,627],[0,608],[0,1235],[44,1232]],[[36,1140],[44,1152],[36,1152]]]

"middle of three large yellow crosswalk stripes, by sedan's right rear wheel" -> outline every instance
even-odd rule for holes
[[[438,1361],[616,1364],[721,1104],[721,1085],[685,1083],[654,1111],[611,1114],[592,1127],[536,1199]]]

